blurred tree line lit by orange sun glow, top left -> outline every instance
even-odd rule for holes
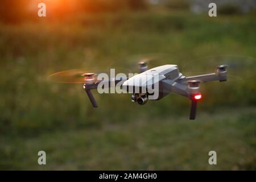
[[[1,0],[0,22],[19,23],[38,18],[38,4],[47,7],[47,18],[65,18],[82,13],[147,9],[146,0]]]

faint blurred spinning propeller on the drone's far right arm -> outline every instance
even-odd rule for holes
[[[246,82],[255,77],[254,57],[242,55],[213,55],[196,60],[181,61],[179,70],[184,76],[204,75],[214,72],[216,67],[228,67],[228,84],[230,82]],[[225,79],[224,79],[225,80]],[[232,83],[234,84],[234,83]]]

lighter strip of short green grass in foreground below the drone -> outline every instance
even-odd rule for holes
[[[255,169],[255,107],[1,138],[2,169]],[[249,115],[249,117],[248,117]],[[209,119],[210,118],[210,119]],[[47,165],[37,164],[38,151]],[[217,152],[217,166],[208,152]]]

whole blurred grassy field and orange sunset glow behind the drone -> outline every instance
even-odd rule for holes
[[[40,2],[46,17],[37,15]],[[217,17],[208,16],[210,2]],[[255,6],[2,0],[0,169],[256,169]],[[216,55],[237,57],[244,69],[238,79],[201,84],[195,121],[189,100],[174,94],[139,106],[129,94],[95,91],[93,109],[82,85],[47,80],[65,69],[127,68],[133,55],[151,53],[166,54],[155,65],[175,63],[181,72],[213,72]],[[46,166],[38,165],[40,150]],[[217,165],[208,164],[211,150]]]

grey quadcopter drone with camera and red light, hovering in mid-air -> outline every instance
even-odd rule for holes
[[[160,100],[170,93],[179,94],[181,96],[187,97],[191,100],[191,110],[189,114],[189,119],[196,118],[196,108],[197,102],[201,100],[202,95],[200,92],[201,82],[210,81],[226,81],[227,80],[227,65],[219,65],[215,73],[209,73],[206,75],[196,75],[186,77],[180,73],[177,65],[166,64],[159,67],[148,69],[146,61],[140,61],[138,63],[139,74],[126,78],[115,77],[109,80],[97,80],[95,78],[95,73],[84,73],[84,90],[92,103],[93,107],[98,107],[96,100],[91,92],[92,89],[97,89],[99,84],[107,84],[108,86],[113,86],[116,84],[121,84],[122,89],[135,88],[137,92],[131,93],[131,101],[137,102],[139,105],[144,105],[148,100]],[[142,77],[147,76],[150,79],[141,82]],[[157,77],[157,79],[156,79]],[[148,89],[148,85],[158,84],[158,97],[150,97],[152,93]],[[138,91],[139,90],[139,91]],[[146,90],[146,92],[142,92]],[[128,90],[127,90],[128,91]],[[129,92],[130,93],[130,92]]]

